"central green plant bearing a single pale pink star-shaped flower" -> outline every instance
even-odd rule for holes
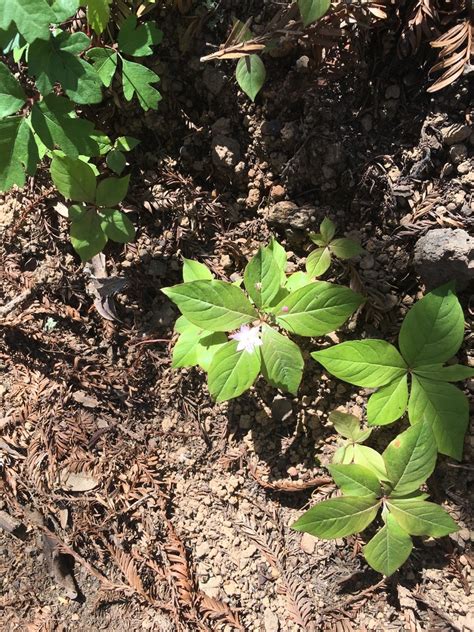
[[[162,290],[182,313],[173,366],[204,369],[216,401],[238,397],[260,373],[272,386],[296,394],[304,362],[287,334],[329,333],[363,303],[349,288],[312,282],[304,272],[287,277],[286,268],[286,252],[272,239],[245,268],[247,293],[189,260],[184,283]]]

